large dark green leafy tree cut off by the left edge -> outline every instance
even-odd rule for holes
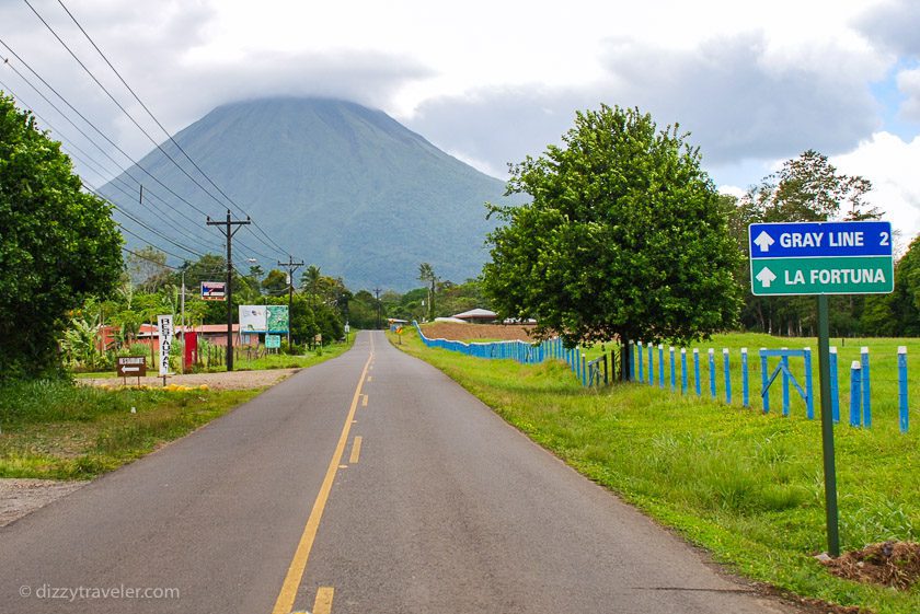
[[[0,378],[60,364],[68,312],[114,292],[122,236],[60,144],[0,93]]]

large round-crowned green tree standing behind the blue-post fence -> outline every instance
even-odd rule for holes
[[[732,326],[739,254],[686,138],[605,105],[577,113],[563,146],[511,166],[508,194],[532,201],[492,207],[506,222],[488,238],[493,309],[537,317],[539,336],[570,346],[687,343]]]

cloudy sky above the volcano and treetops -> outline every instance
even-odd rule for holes
[[[58,0],[30,2],[137,111]],[[920,232],[915,0],[64,2],[171,131],[235,100],[334,96],[506,178],[576,109],[639,106],[689,130],[723,190],[816,149],[873,182],[904,243]],[[0,0],[0,38],[129,153],[150,149],[23,0]],[[73,132],[9,67],[0,82]]]

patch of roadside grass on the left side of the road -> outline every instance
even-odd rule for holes
[[[9,383],[0,387],[0,477],[88,479],[192,432],[263,390]]]

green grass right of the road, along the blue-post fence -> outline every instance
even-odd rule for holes
[[[775,409],[779,393],[774,409],[763,415],[759,404],[746,409],[708,398],[705,376],[701,398],[692,384],[691,394],[681,396],[679,383],[677,394],[647,384],[587,390],[559,361],[521,366],[483,360],[428,349],[414,332],[403,337],[403,350],[441,369],[585,476],[675,528],[739,574],[803,596],[879,614],[920,612],[920,586],[896,592],[843,580],[813,558],[826,549],[820,422],[805,419],[804,408],[784,418]],[[725,335],[716,337],[713,347],[744,345],[756,357],[760,347],[809,343],[795,341]],[[858,356],[858,344],[879,348],[873,358],[874,396],[886,387],[881,347],[912,345],[920,350],[917,340],[874,339],[852,347],[848,340],[847,351],[854,349]],[[849,364],[840,350],[841,364]],[[751,368],[755,362],[759,360],[751,360]],[[751,390],[759,382],[758,371],[751,374]],[[842,389],[841,380],[841,399],[848,398]],[[916,407],[918,397],[912,398]],[[881,399],[874,406],[878,414],[872,429],[847,426],[843,407],[841,403],[843,419],[835,429],[841,548],[886,540],[920,541],[916,409],[911,431],[905,435],[894,415],[883,419],[889,409]]]

